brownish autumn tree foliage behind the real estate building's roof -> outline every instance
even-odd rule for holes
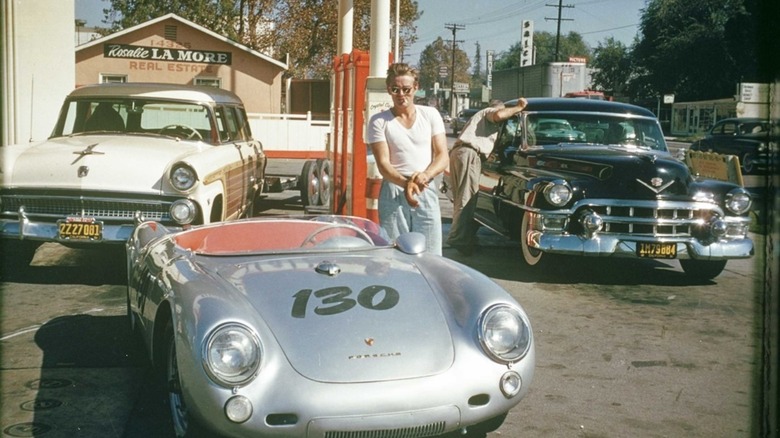
[[[110,0],[112,32],[175,13],[252,49],[290,55],[288,74],[327,78],[336,56],[338,3],[329,0]],[[395,11],[391,11],[391,19]],[[415,41],[416,0],[401,0],[401,50]],[[371,0],[353,1],[353,48],[370,48]]]

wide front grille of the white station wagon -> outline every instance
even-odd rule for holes
[[[170,203],[151,200],[67,195],[3,195],[2,215],[15,216],[20,208],[30,217],[52,220],[62,217],[91,217],[97,220],[132,221],[136,212],[147,220],[170,220]]]

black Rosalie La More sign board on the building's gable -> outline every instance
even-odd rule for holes
[[[106,58],[136,59],[143,61],[195,62],[199,64],[230,65],[230,52],[210,50],[171,49],[160,47],[133,46],[130,44],[104,44]]]

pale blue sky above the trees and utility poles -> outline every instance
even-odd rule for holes
[[[561,33],[579,32],[586,43],[596,47],[607,37],[614,37],[631,45],[638,31],[641,9],[646,0],[563,0]],[[103,9],[108,0],[75,0],[76,18],[87,21],[87,26],[104,27]],[[334,5],[338,3],[334,0]],[[391,10],[395,10],[393,0]],[[520,40],[520,23],[532,20],[534,29],[555,34],[558,8],[555,0],[418,0],[423,11],[417,21],[418,42],[409,47],[404,60],[416,63],[420,52],[441,37],[452,40],[448,24],[465,26],[458,30],[460,47],[473,55],[476,43],[482,54],[493,50],[496,54],[508,50]],[[556,5],[556,6],[548,6]],[[570,7],[571,6],[571,7]]]

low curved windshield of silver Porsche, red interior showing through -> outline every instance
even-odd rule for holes
[[[368,219],[334,215],[231,221],[185,231],[174,239],[183,249],[216,256],[349,252],[387,247],[389,240]]]

